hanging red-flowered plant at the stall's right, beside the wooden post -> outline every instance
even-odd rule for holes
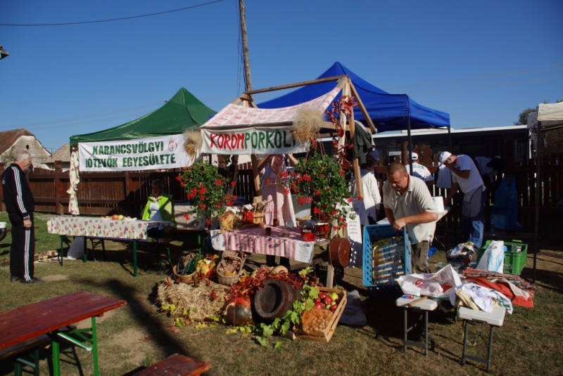
[[[346,227],[346,217],[353,217],[348,209],[352,198],[345,172],[341,165],[329,157],[316,153],[314,145],[307,158],[301,158],[295,171],[284,175],[293,193],[297,194],[299,205],[314,203],[314,214],[320,221],[332,223],[334,230]]]

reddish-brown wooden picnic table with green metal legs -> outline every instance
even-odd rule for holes
[[[96,316],[102,316],[125,304],[125,300],[78,291],[0,313],[0,350],[48,334],[53,340],[53,375],[61,375],[61,339],[91,351],[94,356],[94,375],[99,375]],[[58,332],[59,328],[87,318],[91,318],[91,328]],[[84,332],[90,332],[91,339],[84,337]],[[73,335],[82,339],[76,339]]]

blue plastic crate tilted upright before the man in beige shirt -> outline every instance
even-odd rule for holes
[[[399,285],[396,283],[374,283],[372,273],[372,254],[374,242],[377,242],[377,240],[380,239],[386,239],[400,235],[403,235],[403,241],[405,242],[405,256],[403,258],[403,267],[405,268],[405,274],[410,274],[412,273],[410,261],[410,240],[407,236],[407,229],[403,228],[402,231],[395,231],[393,230],[393,226],[391,226],[390,224],[376,224],[364,227],[362,238],[364,250],[363,284],[373,295],[398,296],[400,294],[403,294],[403,291],[400,290]]]

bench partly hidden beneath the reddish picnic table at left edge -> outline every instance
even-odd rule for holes
[[[61,328],[58,332],[68,332],[75,330],[74,325]],[[34,369],[34,375],[39,376],[39,349],[42,349],[51,344],[51,337],[48,335],[40,335],[32,339],[27,339],[25,342],[20,342],[6,349],[0,350],[0,361],[8,358],[13,358],[13,374],[15,376],[22,375],[22,368],[24,365],[29,365]],[[31,360],[29,359],[31,358]]]

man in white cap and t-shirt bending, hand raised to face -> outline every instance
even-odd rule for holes
[[[454,155],[447,151],[440,155],[440,164],[448,167],[452,172],[452,188],[448,191],[445,202],[450,202],[458,189],[462,191],[463,238],[479,248],[483,243],[483,211],[486,199],[486,190],[479,169],[471,157],[462,154]]]

